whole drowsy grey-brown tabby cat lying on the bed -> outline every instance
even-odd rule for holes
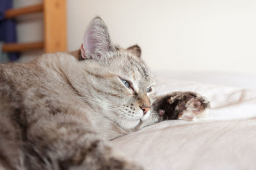
[[[0,65],[0,169],[143,169],[108,140],[200,118],[209,102],[193,92],[156,97],[140,55],[138,45],[113,46],[95,17],[80,50]]]

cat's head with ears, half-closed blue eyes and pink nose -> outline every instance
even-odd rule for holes
[[[84,89],[84,93],[90,89],[92,97],[87,102],[102,107],[102,114],[123,128],[134,128],[145,121],[154,98],[154,82],[140,58],[140,47],[115,47],[106,24],[95,17],[84,33],[80,50],[80,62],[86,63],[90,82]]]

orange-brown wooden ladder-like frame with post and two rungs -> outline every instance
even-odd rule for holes
[[[44,0],[42,4],[7,10],[6,19],[31,13],[44,13],[44,42],[5,43],[4,52],[44,49],[44,52],[67,50],[66,1]]]

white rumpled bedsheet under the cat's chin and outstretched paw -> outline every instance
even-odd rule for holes
[[[215,73],[215,79],[225,79],[218,83],[205,73],[209,83],[157,72],[160,94],[196,91],[210,100],[209,116],[156,123],[115,139],[113,146],[148,170],[256,169],[256,76],[239,76],[241,84],[234,83],[239,77],[228,82],[227,75]]]

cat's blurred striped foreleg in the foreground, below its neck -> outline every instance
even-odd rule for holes
[[[142,169],[117,155],[81,118],[63,114],[29,128],[26,144],[28,169]]]

